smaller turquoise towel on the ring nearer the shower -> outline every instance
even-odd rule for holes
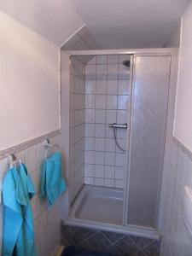
[[[45,160],[41,177],[41,195],[47,195],[49,206],[66,191],[66,182],[61,174],[61,153],[55,152]]]

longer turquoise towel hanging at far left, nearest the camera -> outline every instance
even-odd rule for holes
[[[26,166],[9,168],[3,179],[3,256],[35,256],[30,199],[35,194]]]

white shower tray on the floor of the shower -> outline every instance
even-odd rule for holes
[[[72,217],[121,225],[123,190],[84,185],[73,204]]]

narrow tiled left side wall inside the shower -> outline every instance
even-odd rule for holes
[[[71,58],[70,67],[70,194],[71,201],[84,184],[84,63]]]

